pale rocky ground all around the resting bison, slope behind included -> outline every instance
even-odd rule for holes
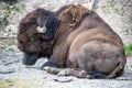
[[[18,22],[30,11],[44,8],[56,11],[64,4],[81,3],[92,8],[121,36],[124,44],[132,43],[132,1],[130,0],[18,0],[7,9],[0,1],[0,88],[132,88],[132,57],[128,57],[124,75],[117,79],[79,79],[50,75],[40,67],[22,64],[16,47]],[[95,2],[92,2],[95,1]],[[11,10],[10,10],[11,9]]]

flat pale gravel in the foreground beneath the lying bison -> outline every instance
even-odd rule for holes
[[[117,79],[61,77],[40,69],[44,58],[34,66],[24,66],[21,58],[6,66],[12,73],[4,69],[0,74],[0,88],[132,88],[132,57],[128,57],[124,75]]]

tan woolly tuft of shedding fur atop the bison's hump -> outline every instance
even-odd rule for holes
[[[67,13],[72,14],[74,24],[78,23],[84,15],[87,13],[91,13],[91,10],[80,6],[80,4],[73,4],[67,9]]]

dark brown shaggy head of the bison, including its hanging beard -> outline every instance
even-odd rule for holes
[[[37,28],[44,26],[47,29],[45,33],[38,33]],[[18,47],[24,53],[23,64],[33,65],[40,57],[51,56],[52,47],[47,48],[45,44],[51,46],[51,43],[46,42],[54,40],[57,29],[56,14],[44,9],[36,9],[21,20]]]

